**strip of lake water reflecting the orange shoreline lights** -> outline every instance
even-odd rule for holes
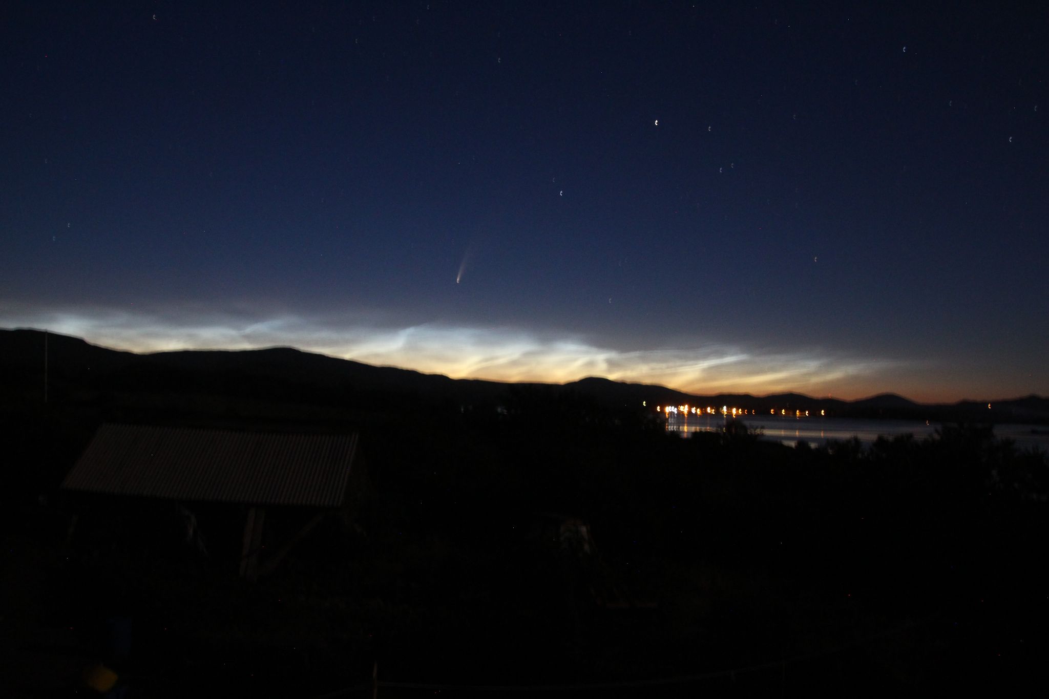
[[[732,417],[721,415],[670,415],[666,422],[668,432],[687,436],[692,432],[721,432]],[[858,437],[864,445],[873,443],[880,435],[896,437],[913,434],[915,439],[930,436],[941,423],[912,420],[864,420],[838,417],[756,417],[743,418],[749,430],[762,430],[765,439],[772,439],[790,446],[799,441],[810,446],[822,446],[830,440]],[[1033,432],[1032,432],[1033,431]],[[1049,428],[1032,424],[994,425],[994,436],[1012,439],[1020,449],[1041,446],[1049,449]]]

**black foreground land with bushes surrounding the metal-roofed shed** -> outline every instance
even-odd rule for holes
[[[7,411],[5,696],[90,696],[98,662],[126,697],[940,692],[1049,650],[1047,459],[987,428],[813,451],[572,396],[299,406],[280,429],[358,430],[366,473],[250,585],[242,512],[198,509],[205,554],[172,503],[58,490],[103,419],[276,424],[151,400]]]

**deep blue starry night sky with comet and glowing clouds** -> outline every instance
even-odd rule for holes
[[[14,4],[3,327],[1049,394],[1034,4]]]

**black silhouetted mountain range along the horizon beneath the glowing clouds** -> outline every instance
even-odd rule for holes
[[[13,396],[42,396],[45,333],[0,330],[0,381]],[[798,393],[769,396],[698,396],[663,386],[614,381],[591,376],[564,385],[504,384],[452,379],[394,367],[374,367],[290,347],[258,350],[187,350],[135,354],[91,345],[79,337],[46,333],[47,383],[60,395],[87,400],[114,394],[227,395],[243,399],[392,411],[405,406],[468,407],[578,396],[615,409],[655,411],[658,406],[736,407],[769,411],[825,411],[829,416],[935,420],[1049,422],[1049,399],[961,401],[951,406],[916,403],[885,393],[861,400],[813,398]]]

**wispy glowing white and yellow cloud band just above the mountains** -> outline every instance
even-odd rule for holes
[[[186,306],[127,310],[6,304],[0,306],[0,321],[6,327],[47,328],[135,352],[286,345],[456,378],[561,383],[605,376],[697,393],[789,390],[840,395],[840,387],[870,384],[876,373],[891,368],[884,358],[843,356],[818,348],[784,352],[697,343],[624,351],[569,332],[441,323],[397,327],[363,313],[309,316]]]

